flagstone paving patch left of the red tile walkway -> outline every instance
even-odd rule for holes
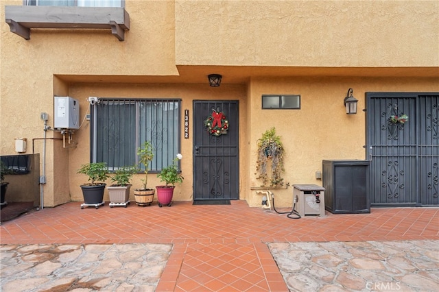
[[[1,289],[155,291],[171,244],[2,245]]]

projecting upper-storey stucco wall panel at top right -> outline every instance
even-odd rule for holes
[[[176,63],[438,66],[438,5],[176,1]]]

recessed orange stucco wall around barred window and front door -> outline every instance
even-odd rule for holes
[[[246,91],[243,85],[221,86],[221,90],[209,87],[209,84],[75,84],[71,86],[69,95],[75,96],[80,100],[80,111],[82,115],[86,114],[88,110],[88,96],[97,97],[128,97],[128,98],[180,98],[182,99],[182,114],[184,110],[189,110],[189,139],[181,139],[181,160],[182,175],[185,180],[182,184],[176,187],[174,191],[175,200],[190,200],[192,199],[192,101],[193,99],[205,99],[209,96],[211,99],[235,99],[239,100],[239,106],[246,108]],[[245,120],[244,111],[240,113],[240,120]],[[182,130],[182,129],[181,129]],[[243,153],[248,152],[248,143],[243,131],[240,138],[239,148]],[[88,162],[89,158],[89,133],[88,121],[84,123],[81,129],[75,134],[75,142],[78,142],[75,148],[69,149],[69,188],[71,191],[71,198],[76,201],[82,200],[82,192],[79,187],[80,184],[86,182],[83,175],[75,175],[75,170],[80,168],[80,165]],[[243,156],[245,157],[245,155]],[[245,177],[246,175],[244,175]],[[140,188],[141,178],[143,175],[135,175],[132,184],[133,188]],[[110,180],[108,180],[110,182]],[[150,173],[148,178],[148,186],[156,186],[163,184],[156,174]],[[244,193],[243,193],[244,194]],[[134,200],[134,195],[132,200]],[[108,196],[108,194],[106,194]],[[108,200],[108,197],[104,197]]]

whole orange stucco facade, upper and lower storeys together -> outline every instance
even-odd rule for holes
[[[44,131],[40,113],[53,127],[54,95],[80,100],[81,118],[88,96],[179,97],[190,112],[193,99],[239,100],[240,198],[260,206],[252,187],[265,130],[283,138],[285,182],[321,185],[323,159],[365,158],[364,93],[439,91],[438,1],[126,0],[122,42],[108,29],[32,29],[24,40],[4,21],[5,5],[21,4],[0,0],[0,151],[15,154],[14,138],[27,138],[43,167],[43,141],[34,139],[55,138],[46,143],[46,206],[82,200],[76,170],[89,157],[88,122],[71,145]],[[209,73],[221,73],[222,85],[209,87]],[[350,116],[348,88],[359,99]],[[262,94],[300,95],[301,109],[261,110]],[[192,199],[191,143],[181,141],[176,200]],[[276,206],[291,206],[291,193],[276,190]]]

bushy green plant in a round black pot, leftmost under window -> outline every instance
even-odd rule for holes
[[[105,162],[91,162],[81,166],[77,173],[88,176],[88,181],[81,185],[82,195],[84,196],[84,204],[81,204],[81,209],[84,206],[99,206],[104,205],[104,189],[106,186],[105,180],[108,178],[108,167]]]

